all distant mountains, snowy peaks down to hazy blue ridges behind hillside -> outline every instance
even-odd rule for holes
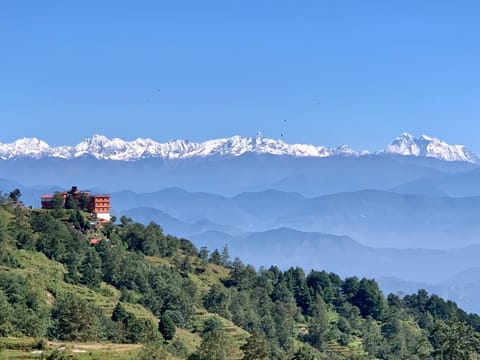
[[[203,144],[94,136],[61,148],[19,140],[0,149],[0,169],[17,175],[2,188],[21,188],[34,207],[43,193],[86,184],[111,193],[117,218],[155,221],[198,247],[228,245],[257,267],[375,277],[389,291],[421,283],[480,310],[476,285],[466,286],[480,278],[464,276],[480,255],[480,170],[464,146],[405,133],[374,152],[261,135]]]

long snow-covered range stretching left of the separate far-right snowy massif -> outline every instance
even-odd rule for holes
[[[171,140],[157,143],[152,139],[125,141],[94,135],[76,146],[50,147],[38,139],[21,139],[12,144],[0,144],[0,158],[57,157],[73,159],[93,156],[97,159],[139,160],[149,157],[185,159],[212,155],[240,156],[245,153],[289,155],[297,157],[327,157],[332,155],[358,156],[359,153],[347,146],[327,148],[304,144],[287,144],[281,140],[264,138],[261,133],[255,137],[233,136],[225,139],[208,140],[203,143],[188,140]]]

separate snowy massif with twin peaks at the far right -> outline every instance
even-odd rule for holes
[[[427,135],[415,138],[409,133],[397,137],[380,153],[432,157],[445,161],[479,162],[478,157],[463,145],[449,145]]]

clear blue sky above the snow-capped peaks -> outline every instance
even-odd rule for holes
[[[3,1],[0,142],[284,133],[480,153],[478,1]],[[286,119],[285,124],[283,120]]]

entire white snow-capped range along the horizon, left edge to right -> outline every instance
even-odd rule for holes
[[[94,135],[75,146],[49,146],[37,138],[23,138],[13,143],[0,143],[0,159],[62,158],[74,159],[93,156],[102,160],[135,161],[145,158],[186,159],[208,156],[240,156],[245,153],[285,155],[292,157],[365,156],[368,151],[355,151],[346,145],[335,148],[308,144],[287,144],[282,140],[265,138],[261,133],[254,137],[233,136],[208,140],[202,143],[188,140],[171,140],[159,143],[139,138],[125,141]],[[385,149],[373,154],[398,154],[433,157],[445,161],[478,163],[478,157],[463,145],[449,145],[439,139],[422,135],[419,138],[404,133]]]

